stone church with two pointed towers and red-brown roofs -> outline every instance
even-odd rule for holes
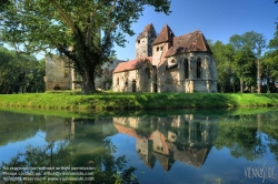
[[[217,92],[217,68],[205,35],[176,37],[168,24],[157,35],[152,24],[136,40],[136,59],[113,71],[116,92]]]

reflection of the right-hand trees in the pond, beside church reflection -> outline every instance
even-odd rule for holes
[[[230,154],[235,157],[245,157],[249,161],[261,159],[267,153],[267,144],[262,142],[261,132],[266,133],[269,139],[275,133],[271,130],[277,130],[277,125],[270,129],[266,126],[271,121],[267,119],[267,115],[251,114],[220,119],[215,146],[218,150],[224,146],[230,149]],[[277,121],[277,119],[275,120]],[[271,149],[275,146],[272,143],[270,142],[268,146],[271,152],[275,152],[276,149]]]

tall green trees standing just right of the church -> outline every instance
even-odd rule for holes
[[[260,57],[265,48],[266,39],[255,31],[231,35],[228,44],[220,41],[212,44],[219,91],[237,92],[240,86],[242,93],[246,86],[248,92],[251,92],[257,83],[259,89],[261,82],[260,80],[257,82],[257,79],[262,78]]]

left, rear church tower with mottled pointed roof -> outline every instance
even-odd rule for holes
[[[152,23],[147,24],[143,31],[136,39],[136,58],[151,57],[152,42],[156,40],[157,33]]]

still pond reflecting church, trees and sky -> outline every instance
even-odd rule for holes
[[[109,183],[132,166],[139,183],[278,183],[276,110],[127,114],[0,111],[0,180],[14,167],[91,166],[102,173],[92,183]]]

